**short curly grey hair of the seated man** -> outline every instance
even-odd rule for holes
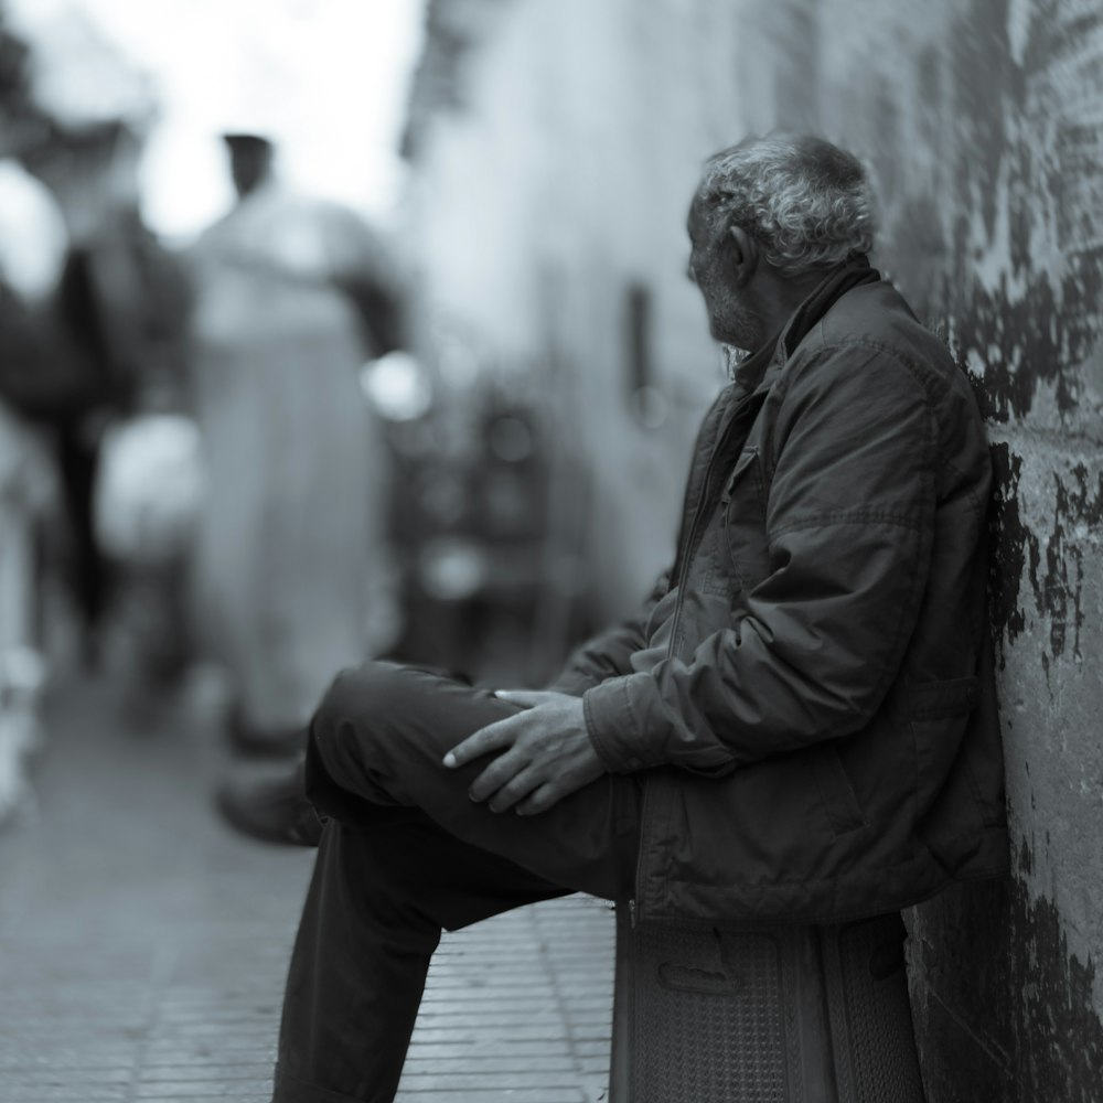
[[[705,162],[699,197],[759,242],[785,276],[874,247],[876,213],[861,162],[807,135],[745,139]]]

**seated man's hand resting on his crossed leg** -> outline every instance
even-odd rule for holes
[[[531,816],[606,772],[586,730],[580,697],[521,689],[496,696],[525,711],[468,736],[445,756],[445,765],[456,769],[491,751],[504,752],[474,780],[471,800],[490,801],[492,812],[516,807],[518,815]]]

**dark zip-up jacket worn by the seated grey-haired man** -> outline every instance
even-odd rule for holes
[[[834,922],[1007,868],[990,482],[968,381],[865,261],[740,367],[673,571],[556,684],[642,771],[639,915]]]

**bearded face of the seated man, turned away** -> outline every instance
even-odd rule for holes
[[[686,228],[689,232],[687,275],[705,300],[709,332],[725,344],[753,350],[761,340],[761,325],[742,293],[735,266],[735,244],[725,221],[699,196],[694,196]]]

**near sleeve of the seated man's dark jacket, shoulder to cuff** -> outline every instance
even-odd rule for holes
[[[792,365],[770,452],[769,572],[688,662],[585,694],[607,768],[702,774],[860,730],[896,677],[934,528],[933,410],[879,346]]]

